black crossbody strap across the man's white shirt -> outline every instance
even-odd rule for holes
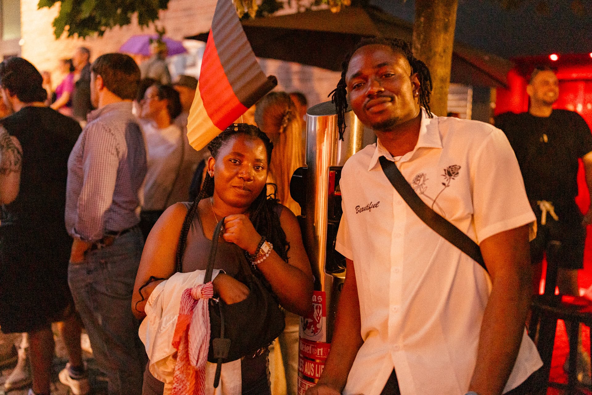
[[[466,236],[464,232],[458,229],[458,227],[454,226],[444,217],[440,216],[440,214],[436,213],[436,211],[432,210],[432,208],[428,207],[428,205],[425,204],[413,190],[413,187],[409,185],[394,162],[388,160],[384,156],[381,156],[378,160],[388,181],[390,181],[392,186],[395,187],[395,190],[399,192],[399,195],[401,195],[411,210],[413,210],[413,212],[416,213],[427,226],[451,242],[452,245],[455,245],[456,248],[464,252],[487,271],[483,256],[481,255],[481,249],[477,243],[475,243],[471,237]]]

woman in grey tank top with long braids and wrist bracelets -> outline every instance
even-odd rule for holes
[[[145,316],[146,300],[162,281],[150,282],[151,278],[169,278],[175,272],[178,254],[183,272],[206,268],[214,227],[223,217],[223,240],[214,268],[227,274],[214,279],[214,293],[227,304],[244,300],[249,289],[233,276],[239,272],[240,259],[257,256],[252,258],[254,273],[271,287],[282,307],[307,314],[312,307],[313,276],[298,221],[288,208],[266,195],[273,144],[257,127],[233,124],[208,148],[212,156],[200,195],[193,204],[169,207],[148,236],[134,287],[134,314],[139,319]],[[272,250],[261,254],[263,237]],[[243,394],[271,393],[266,365],[266,350],[243,358]],[[146,370],[143,393],[162,394],[163,387]]]

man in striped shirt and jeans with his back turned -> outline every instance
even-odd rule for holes
[[[141,394],[144,351],[137,345],[131,294],[143,248],[137,226],[146,147],[131,102],[140,70],[131,57],[92,64],[88,114],[68,160],[66,228],[73,237],[68,282],[109,395]],[[70,386],[72,387],[72,386]]]

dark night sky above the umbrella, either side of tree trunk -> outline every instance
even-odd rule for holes
[[[521,55],[592,52],[592,8],[577,17],[571,0],[548,0],[551,15],[535,11],[536,1],[506,10],[491,0],[459,0],[455,39],[506,58]],[[413,22],[414,0],[371,0],[392,15]]]

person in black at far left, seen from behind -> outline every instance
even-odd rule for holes
[[[21,57],[0,63],[0,94],[14,112],[0,120],[0,126],[22,146],[20,191],[0,213],[0,326],[5,333],[28,332],[33,393],[49,395],[51,323],[63,321],[70,358],[67,382],[85,394],[89,388],[81,325],[67,283],[72,239],[64,219],[67,160],[81,127],[46,107],[42,81]],[[64,373],[60,381],[65,381]]]

